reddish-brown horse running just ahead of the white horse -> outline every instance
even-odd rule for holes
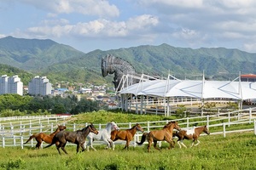
[[[129,144],[131,142],[131,139],[133,139],[135,133],[137,131],[140,132],[144,132],[143,127],[141,127],[141,125],[139,125],[138,123],[136,125],[134,125],[133,127],[131,127],[130,129],[126,129],[126,130],[113,130],[111,132],[111,139],[113,141],[116,141],[118,139],[120,140],[126,140],[126,144],[125,144],[125,149],[129,150]]]

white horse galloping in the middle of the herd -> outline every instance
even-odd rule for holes
[[[107,144],[106,149],[111,147],[114,150],[113,140],[110,139],[110,137],[111,137],[111,131],[115,129],[119,130],[119,127],[117,126],[117,124],[115,122],[108,122],[108,124],[106,125],[106,128],[102,128],[98,130],[98,134],[89,133],[87,136],[88,144],[86,144],[87,150],[89,151],[89,148],[96,150],[92,146],[92,142],[94,140],[102,140]]]

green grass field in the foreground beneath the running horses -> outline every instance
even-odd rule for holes
[[[0,147],[0,169],[255,169],[256,136],[250,133],[230,133],[201,136],[198,146],[147,152],[147,144],[122,150],[104,150],[105,145],[96,145],[97,151],[76,154],[76,146],[66,146],[68,155],[58,154],[55,146],[35,150],[31,147]],[[191,141],[184,141],[189,145]]]

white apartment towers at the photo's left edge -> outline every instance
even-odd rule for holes
[[[23,82],[18,76],[7,77],[3,75],[0,82],[0,94],[20,94],[23,95]]]

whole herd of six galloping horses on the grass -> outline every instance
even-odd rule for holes
[[[100,130],[96,130],[96,127],[92,123],[90,125],[84,127],[81,130],[77,131],[67,131],[65,130],[67,127],[63,125],[58,125],[54,133],[45,134],[45,133],[36,133],[30,136],[29,139],[27,139],[27,144],[30,140],[35,138],[37,140],[36,148],[40,148],[42,142],[48,143],[49,145],[45,146],[44,148],[48,148],[49,146],[55,144],[56,149],[58,150],[59,154],[61,155],[61,150],[64,151],[65,154],[67,154],[67,150],[65,150],[65,146],[67,142],[77,144],[77,153],[79,152],[79,148],[82,148],[82,151],[87,148],[89,151],[90,148],[92,150],[96,150],[93,147],[93,141],[94,140],[101,140],[104,141],[107,146],[106,149],[111,148],[114,150],[114,141],[116,140],[125,140],[125,148],[124,150],[129,150],[129,144],[131,142],[131,139],[133,139],[135,133],[137,131],[142,132],[143,136],[140,142],[137,142],[137,144],[141,145],[146,140],[148,140],[148,152],[150,151],[151,144],[154,143],[154,149],[160,150],[160,148],[157,147],[158,141],[166,141],[169,145],[168,149],[173,149],[175,145],[174,139],[177,138],[177,144],[180,148],[182,146],[186,147],[185,144],[183,144],[183,139],[189,139],[192,140],[193,145],[198,145],[200,141],[198,140],[201,133],[207,133],[210,134],[207,126],[201,126],[201,127],[193,127],[189,130],[184,130],[179,127],[178,123],[175,121],[168,122],[162,129],[158,130],[152,130],[149,133],[144,133],[143,127],[141,127],[140,124],[136,124],[130,129],[126,130],[119,130],[119,127],[115,122],[108,122],[105,128],[102,128]],[[174,129],[176,129],[174,131]],[[85,141],[88,140],[88,143],[85,146]],[[195,144],[196,143],[196,144]],[[182,144],[182,145],[181,145]],[[60,150],[61,148],[61,150]]]

